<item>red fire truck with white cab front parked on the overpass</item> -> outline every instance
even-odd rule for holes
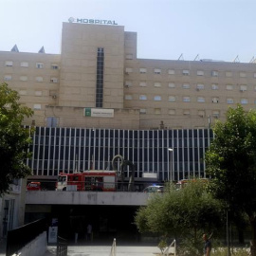
[[[59,174],[56,191],[115,192],[116,171],[84,171],[74,174]]]

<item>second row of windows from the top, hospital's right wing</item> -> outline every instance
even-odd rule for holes
[[[133,86],[133,82],[131,81],[126,81],[124,84],[125,87],[131,87]],[[139,86],[140,87],[146,87],[147,86],[147,82],[139,82]],[[155,87],[161,87],[162,83],[161,82],[154,82],[154,86]],[[226,89],[227,90],[233,90],[237,85],[233,85],[233,84],[227,84],[226,85]],[[246,84],[242,84],[242,85],[238,85],[240,91],[247,91],[247,85]],[[169,82],[168,83],[168,87],[169,88],[175,88],[176,85],[174,82]],[[182,83],[182,88],[183,89],[190,89],[191,88],[191,84],[190,83]],[[196,89],[197,90],[204,90],[206,88],[205,84],[203,83],[197,83],[196,84]],[[219,84],[211,84],[211,89],[212,90],[218,90],[219,89]],[[254,90],[256,90],[256,85],[254,86]]]

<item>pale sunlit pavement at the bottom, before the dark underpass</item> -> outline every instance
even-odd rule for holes
[[[67,256],[109,256],[111,247],[106,246],[69,246]],[[156,256],[158,247],[117,246],[117,256]],[[56,255],[56,247],[48,247],[45,256]]]

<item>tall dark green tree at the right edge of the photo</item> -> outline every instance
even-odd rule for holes
[[[256,246],[256,112],[241,105],[229,108],[227,120],[216,122],[214,139],[206,154],[210,191],[229,212],[247,214]]]

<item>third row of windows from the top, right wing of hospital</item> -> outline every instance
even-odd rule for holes
[[[124,96],[124,99],[127,100],[127,101],[132,101],[133,100],[133,95],[126,94]],[[148,97],[147,97],[147,95],[139,95],[138,96],[138,100],[140,100],[140,101],[147,101]],[[154,96],[153,100],[154,101],[162,101],[162,97],[159,96],[159,95],[156,95],[156,96]],[[168,101],[175,102],[176,100],[177,100],[176,96],[171,96],[171,95],[168,96]],[[182,101],[183,102],[191,102],[191,97],[190,96],[182,97]],[[197,102],[204,103],[204,102],[206,102],[206,99],[204,97],[197,97]],[[219,98],[218,97],[213,97],[213,98],[211,98],[211,102],[212,103],[219,103]],[[228,104],[233,104],[234,103],[234,99],[233,98],[227,98],[227,103]],[[247,104],[248,103],[248,99],[246,99],[246,98],[241,99],[240,103],[241,104]],[[256,103],[256,101],[254,103]]]

